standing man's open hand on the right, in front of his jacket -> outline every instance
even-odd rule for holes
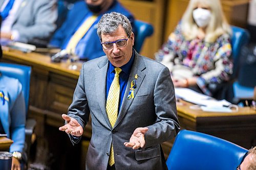
[[[147,130],[148,128],[136,128],[130,138],[130,142],[123,143],[125,147],[130,147],[134,150],[138,148],[143,148],[146,144],[145,133],[147,132]]]

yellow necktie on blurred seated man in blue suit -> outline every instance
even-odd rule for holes
[[[86,34],[87,31],[91,28],[91,26],[93,25],[93,23],[95,22],[96,19],[97,19],[96,15],[92,15],[89,18],[87,18],[86,21],[84,21],[82,23],[82,25],[79,27],[79,29],[71,37],[71,39],[66,47],[66,51],[69,54],[75,54],[76,45],[82,39],[84,34]]]

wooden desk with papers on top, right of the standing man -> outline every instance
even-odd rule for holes
[[[239,108],[238,112],[216,113],[193,110],[193,104],[181,101],[177,103],[181,129],[202,132],[226,139],[244,148],[256,145],[256,111],[250,107]],[[173,140],[164,142],[164,154],[172,148]]]

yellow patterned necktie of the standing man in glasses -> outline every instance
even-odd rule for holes
[[[117,119],[118,106],[119,106],[118,105],[119,94],[120,94],[119,74],[122,71],[122,69],[119,67],[116,67],[115,71],[116,71],[115,78],[111,83],[108,99],[106,99],[106,113],[108,114],[112,128],[114,127]],[[112,166],[114,163],[115,163],[114,150],[113,150],[113,144],[111,144],[109,164],[110,166]]]

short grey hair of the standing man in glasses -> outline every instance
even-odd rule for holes
[[[100,38],[100,41],[102,42],[101,33],[111,34],[115,32],[119,26],[123,27],[125,33],[130,38],[132,34],[132,25],[126,16],[117,12],[104,14],[99,20],[97,29],[97,34]]]

